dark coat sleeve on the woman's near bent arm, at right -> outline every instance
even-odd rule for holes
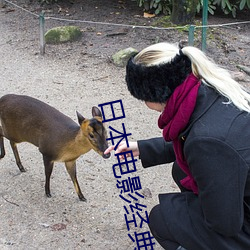
[[[235,236],[243,226],[244,189],[248,166],[225,141],[192,138],[184,154],[197,182],[205,223],[224,236]]]

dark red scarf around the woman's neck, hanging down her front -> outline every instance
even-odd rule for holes
[[[187,174],[187,177],[181,180],[181,184],[195,194],[198,194],[198,187],[185,160],[183,144],[179,139],[179,135],[188,125],[194,111],[199,86],[199,79],[191,73],[174,90],[158,120],[159,128],[163,129],[164,139],[173,142],[176,161]]]

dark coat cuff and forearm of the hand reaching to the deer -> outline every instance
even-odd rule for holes
[[[175,161],[175,153],[171,142],[163,137],[138,141],[140,159],[144,168]]]

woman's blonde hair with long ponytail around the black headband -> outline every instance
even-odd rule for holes
[[[233,103],[238,109],[250,113],[250,94],[231,77],[227,70],[215,64],[195,47],[187,46],[180,51],[176,44],[157,43],[138,53],[134,62],[145,66],[160,65],[170,62],[181,52],[190,59],[193,74],[228,99],[225,104]]]

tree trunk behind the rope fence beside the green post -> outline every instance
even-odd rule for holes
[[[171,22],[178,25],[192,24],[198,0],[173,0]]]

